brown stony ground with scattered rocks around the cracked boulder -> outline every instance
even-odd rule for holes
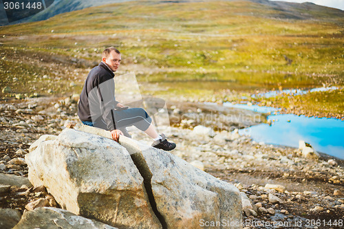
[[[67,122],[78,120],[76,100],[1,101],[0,172],[27,177],[28,167],[20,158],[39,136],[57,135]],[[233,131],[264,122],[261,114],[195,103],[170,102],[168,107],[173,126],[170,139],[177,143],[171,153],[204,167],[204,171],[234,184],[246,195],[252,208],[244,210],[244,228],[342,228],[343,160],[326,155],[318,159],[303,157],[299,149],[254,142]],[[197,127],[200,125],[215,131]],[[141,133],[132,135],[151,144]],[[279,186],[269,188],[267,184]],[[1,193],[0,207],[23,213],[26,204],[47,195],[23,195],[23,191],[11,187]]]

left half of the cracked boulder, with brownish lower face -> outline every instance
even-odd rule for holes
[[[74,129],[42,138],[25,155],[28,177],[34,186],[47,187],[63,209],[118,228],[161,228],[123,146]]]

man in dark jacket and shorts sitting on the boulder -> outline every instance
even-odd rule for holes
[[[102,54],[101,63],[89,72],[78,103],[80,120],[83,124],[111,131],[115,141],[126,133],[125,127],[134,125],[153,138],[153,147],[165,151],[175,149],[175,143],[168,142],[163,133],[158,135],[144,109],[128,108],[116,101],[114,72],[120,61],[120,52],[115,47],[108,47]]]

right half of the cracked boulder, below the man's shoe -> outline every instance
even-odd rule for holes
[[[151,180],[156,206],[168,228],[199,228],[200,220],[241,221],[241,195],[235,186],[171,153],[122,136],[119,142],[144,171],[143,177]]]

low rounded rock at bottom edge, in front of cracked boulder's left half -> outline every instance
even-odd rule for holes
[[[25,212],[13,229],[61,228],[61,229],[116,229],[94,219],[87,219],[60,208],[36,208]]]

